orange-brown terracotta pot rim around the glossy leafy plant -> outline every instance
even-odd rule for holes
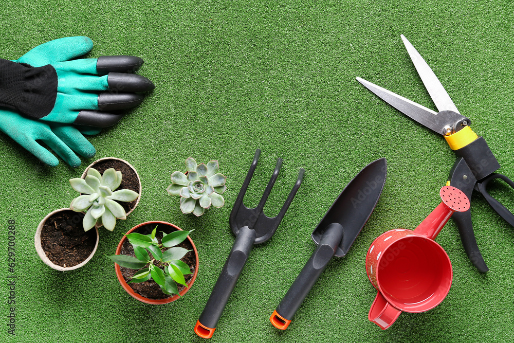
[[[148,224],[167,225],[167,226],[172,227],[175,230],[182,230],[178,226],[173,225],[171,223],[161,222],[161,221],[150,221],[150,222],[144,222],[144,223],[141,223],[139,225],[134,226],[132,229],[130,229],[127,232],[127,234],[131,233],[133,231],[136,231],[138,228],[140,228],[143,225],[148,225]],[[121,239],[120,243],[118,244],[118,248],[116,249],[116,255],[120,255],[121,247],[123,246],[123,243],[125,242],[126,239],[127,239],[126,236],[123,236],[123,238]],[[194,280],[196,279],[196,275],[198,274],[198,251],[196,250],[196,246],[194,245],[194,243],[191,240],[191,238],[188,236],[187,239],[189,240],[189,242],[193,246],[193,252],[194,252],[194,255],[195,255],[195,258],[196,258],[196,266],[195,266],[195,270],[194,270],[194,273],[193,273],[193,278],[191,279],[191,281],[189,281],[187,283],[188,287],[184,288],[182,291],[179,292],[180,293],[180,297],[185,295],[190,290],[191,286],[193,285]],[[126,283],[125,279],[121,275],[120,266],[117,263],[114,264],[114,268],[116,270],[116,277],[118,278],[118,281],[121,283],[121,286],[123,287],[123,289],[128,294],[130,294],[132,297],[134,297],[135,299],[137,299],[137,300],[139,300],[141,302],[144,302],[144,303],[147,303],[147,304],[167,304],[169,302],[172,302],[172,301],[175,301],[175,300],[179,299],[179,296],[176,295],[176,294],[171,296],[171,297],[164,298],[164,299],[148,299],[148,298],[145,298],[145,297],[135,293],[134,290],[132,290],[131,286]]]

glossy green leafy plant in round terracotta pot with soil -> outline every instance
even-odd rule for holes
[[[116,255],[109,256],[124,290],[149,304],[169,303],[186,294],[198,274],[198,251],[190,232],[161,221],[129,230]]]

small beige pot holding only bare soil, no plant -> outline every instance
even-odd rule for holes
[[[69,219],[68,220],[62,219],[64,216],[68,216]],[[61,209],[55,210],[53,212],[50,212],[45,216],[45,218],[39,224],[38,229],[36,229],[35,237],[34,237],[35,250],[38,252],[38,256],[41,258],[41,260],[44,263],[46,263],[48,266],[50,266],[53,269],[64,272],[66,270],[73,270],[73,269],[82,267],[93,257],[93,255],[95,255],[95,252],[98,247],[98,239],[99,239],[98,229],[95,228],[94,230],[91,229],[87,232],[84,232],[84,228],[82,227],[82,220],[81,220],[81,218],[79,218],[79,217],[83,217],[83,216],[84,216],[83,213],[74,212],[74,211],[70,210],[69,208],[61,208]],[[56,221],[56,218],[61,218],[61,219],[58,219]],[[62,240],[59,240],[56,243],[52,243],[55,248],[58,248],[58,250],[59,250],[59,251],[57,251],[58,255],[54,255],[52,252],[48,251],[49,256],[47,256],[47,252],[43,248],[45,246],[45,244],[41,242],[41,239],[42,239],[41,236],[42,236],[42,232],[45,227],[45,224],[47,222],[51,223],[52,220],[53,220],[53,224],[48,224],[48,225],[56,226],[56,230],[53,231],[54,232],[53,238],[50,237],[49,239],[52,239],[52,240],[59,239],[59,234],[57,233],[57,232],[59,232],[59,230],[67,231],[68,234],[66,234],[66,236],[65,236],[64,232],[61,231],[60,233],[62,234]],[[59,224],[57,224],[57,222],[59,222]],[[81,235],[81,233],[83,233],[83,234]],[[96,234],[96,240],[93,237],[94,234]],[[46,229],[45,229],[45,232],[43,233],[43,236],[46,236]],[[56,236],[58,236],[58,237],[56,238]],[[79,236],[81,236],[81,237],[79,237]],[[84,239],[84,237],[86,237],[86,238]],[[56,259],[58,259],[59,257],[61,257],[62,259],[66,259],[67,256],[69,256],[70,259],[74,258],[75,256],[77,256],[78,250],[80,250],[80,251],[83,251],[84,249],[87,250],[87,242],[89,242],[89,246],[90,246],[93,241],[95,242],[93,251],[90,252],[90,254],[87,256],[87,258],[85,260],[83,260],[82,262],[80,262],[78,264],[76,264],[76,263],[79,261],[75,260],[75,261],[71,261],[69,263],[70,265],[73,264],[71,266],[61,266],[50,260],[50,259],[52,259],[57,262]],[[84,242],[86,242],[86,243],[84,243]],[[62,245],[66,245],[66,246],[63,247]],[[67,252],[69,252],[69,254],[67,254]],[[64,265],[66,265],[66,263],[64,263]]]

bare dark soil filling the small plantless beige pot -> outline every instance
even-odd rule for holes
[[[57,212],[50,216],[41,230],[41,247],[46,257],[61,267],[72,267],[85,261],[95,248],[96,230],[84,232],[83,213]]]

